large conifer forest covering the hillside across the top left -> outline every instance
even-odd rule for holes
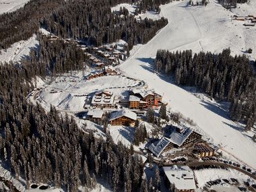
[[[168,22],[137,20],[133,15],[121,17],[110,7],[119,3],[136,3],[138,11],[160,10],[160,3],[169,0],[31,0],[24,7],[0,15],[0,49],[14,42],[26,40],[40,27],[62,38],[86,40],[93,45],[126,40],[129,49],[133,44],[146,43]]]

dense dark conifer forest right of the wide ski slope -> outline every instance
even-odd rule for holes
[[[245,121],[246,130],[256,122],[255,70],[245,55],[232,57],[230,49],[218,55],[158,50],[154,67],[179,85],[196,86],[212,98],[230,101],[230,117]]]

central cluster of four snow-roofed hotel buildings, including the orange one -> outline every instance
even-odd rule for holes
[[[100,90],[88,97],[84,108],[88,109],[85,118],[100,122],[106,111],[112,111],[109,117],[110,125],[134,126],[137,116],[143,115],[149,107],[157,108],[162,104],[162,96],[154,90],[144,88],[129,90],[129,97],[118,100],[117,96],[108,90]],[[119,108],[119,110],[115,110]],[[121,108],[121,109],[120,109]]]

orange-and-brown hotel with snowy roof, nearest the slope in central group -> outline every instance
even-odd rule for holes
[[[160,94],[156,94],[152,90],[131,90],[130,95],[130,108],[148,108],[148,107],[158,107],[162,104],[162,96]],[[139,98],[139,99],[138,99]],[[145,103],[146,102],[146,103]]]

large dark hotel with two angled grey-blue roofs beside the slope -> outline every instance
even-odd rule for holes
[[[201,139],[201,136],[201,134],[188,127],[172,127],[168,137],[162,137],[159,141],[152,143],[148,150],[156,157],[159,157],[162,153],[168,152],[172,148],[183,148],[196,143]]]

